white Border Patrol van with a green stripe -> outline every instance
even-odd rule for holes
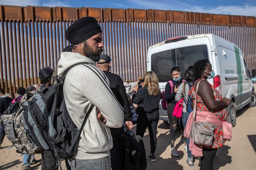
[[[197,60],[208,59],[215,77],[208,80],[219,90],[222,97],[229,98],[229,122],[236,124],[236,111],[248,105],[256,105],[256,94],[251,73],[243,58],[243,52],[235,44],[213,34],[174,37],[149,47],[147,71],[154,71],[161,91],[172,79],[171,68],[178,66],[181,76]],[[168,122],[166,110],[160,105],[160,120]]]

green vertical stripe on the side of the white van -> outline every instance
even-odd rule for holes
[[[239,54],[239,49],[235,47],[235,58],[237,60],[237,75],[238,75],[238,90],[237,90],[237,95],[243,94],[243,76],[242,76],[242,66],[241,66],[241,60],[240,60],[240,54]],[[237,103],[238,106],[240,107],[241,103]]]

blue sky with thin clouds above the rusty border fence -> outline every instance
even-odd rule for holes
[[[184,10],[256,16],[256,0],[0,0],[0,4]]]

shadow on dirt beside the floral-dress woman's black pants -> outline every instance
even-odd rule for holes
[[[219,156],[216,156],[213,163],[213,170],[219,170],[220,167],[224,167],[232,162],[232,157],[227,155],[229,153],[230,147],[224,145],[218,148]]]

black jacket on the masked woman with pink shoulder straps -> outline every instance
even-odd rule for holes
[[[173,92],[171,93],[171,84],[168,82],[165,85],[165,101],[167,101],[167,103],[171,103],[172,105],[176,105],[176,101],[175,101],[175,95],[176,93],[174,92],[174,88],[179,87],[179,85],[182,83],[182,81],[180,80],[180,82],[171,80],[173,82]]]

